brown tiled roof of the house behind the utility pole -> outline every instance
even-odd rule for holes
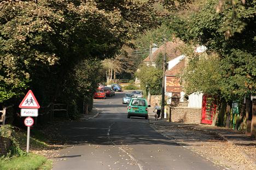
[[[178,47],[183,45],[183,41],[179,39],[174,39],[172,42],[168,41],[166,43],[166,60],[172,60],[173,58],[176,58],[177,56],[181,55],[181,51],[179,51]],[[155,62],[156,58],[158,58],[158,55],[162,53],[165,53],[165,44],[161,45],[158,50],[156,50],[152,56],[151,56],[151,61]],[[150,62],[150,56],[145,58],[143,62]]]

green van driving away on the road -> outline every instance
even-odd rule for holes
[[[148,102],[143,98],[132,98],[127,105],[128,115],[127,118],[131,116],[134,117],[144,117],[148,119]]]

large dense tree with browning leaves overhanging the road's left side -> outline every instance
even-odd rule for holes
[[[99,61],[155,25],[152,4],[0,1],[0,102],[14,102],[30,88],[41,106],[63,102],[77,114],[99,81]]]

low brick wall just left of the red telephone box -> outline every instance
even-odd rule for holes
[[[196,123],[201,122],[201,108],[171,107],[171,122]]]

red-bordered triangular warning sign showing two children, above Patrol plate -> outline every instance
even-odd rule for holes
[[[25,98],[21,101],[20,108],[40,108],[37,99],[31,90],[28,90]]]

